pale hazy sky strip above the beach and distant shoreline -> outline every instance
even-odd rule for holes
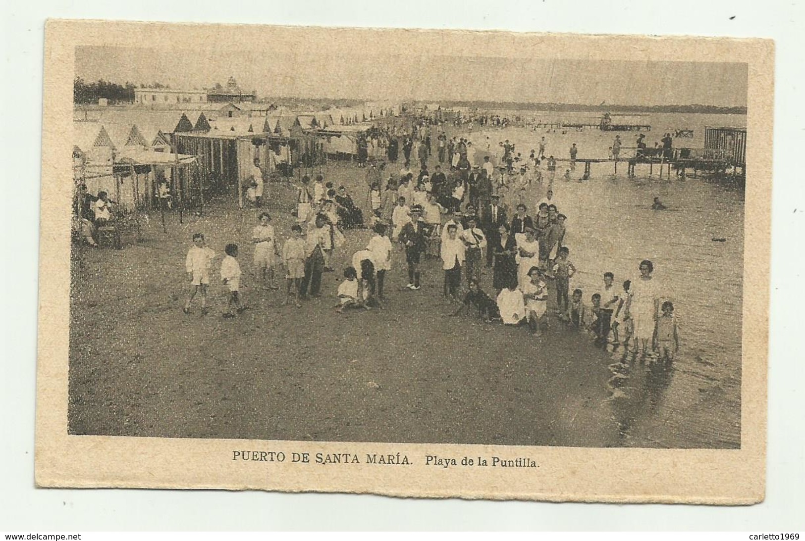
[[[469,52],[469,51],[468,51]],[[262,48],[229,51],[76,47],[76,76],[209,88],[234,76],[258,96],[487,100],[745,107],[746,64],[381,55],[312,47],[278,62]]]

